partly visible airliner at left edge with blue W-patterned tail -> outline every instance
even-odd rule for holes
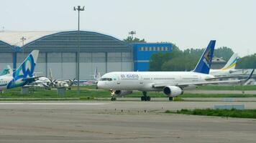
[[[38,50],[32,51],[16,71],[0,76],[0,90],[23,87],[29,82],[34,81],[35,77],[33,77],[33,74],[37,64],[38,53]]]

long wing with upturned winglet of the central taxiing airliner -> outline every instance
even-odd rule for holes
[[[246,82],[252,78],[252,74],[255,69],[252,70],[251,74],[247,79],[237,79],[237,80],[225,80],[225,81],[204,81],[204,82],[187,82],[187,83],[163,83],[163,84],[153,84],[154,88],[163,88],[166,86],[176,86],[176,87],[188,87],[189,85],[203,85],[203,84],[223,84],[223,83],[239,83]]]

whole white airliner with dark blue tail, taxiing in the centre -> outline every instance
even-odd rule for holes
[[[97,87],[111,91],[112,101],[116,100],[116,97],[124,97],[127,94],[132,94],[132,91],[135,90],[143,93],[141,97],[142,101],[150,101],[147,92],[163,92],[171,101],[173,97],[183,94],[183,89],[186,87],[227,82],[244,82],[250,79],[252,73],[250,77],[242,80],[209,81],[209,79],[215,79],[214,76],[209,74],[215,42],[215,40],[210,41],[193,71],[109,72],[101,77]]]

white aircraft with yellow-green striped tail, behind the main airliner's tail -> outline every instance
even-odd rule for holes
[[[238,59],[239,59],[239,56],[237,55],[237,53],[234,53],[223,68],[210,69],[209,74],[213,75],[214,77],[227,77],[227,76],[243,74],[241,72],[243,69],[234,69],[237,65]]]

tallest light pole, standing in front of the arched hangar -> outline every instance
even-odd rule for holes
[[[80,70],[80,11],[84,11],[84,6],[83,8],[81,8],[81,6],[78,6],[76,8],[76,6],[74,6],[74,11],[78,11],[78,54],[77,54],[77,70],[76,70],[76,76],[77,76],[77,79],[78,79],[78,94],[80,94],[80,75],[79,75],[79,70]]]

